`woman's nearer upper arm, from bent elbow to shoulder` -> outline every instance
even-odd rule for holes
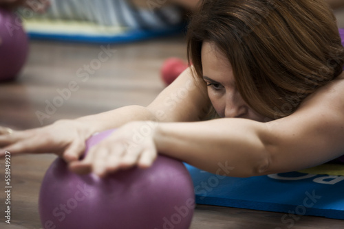
[[[343,155],[344,73],[304,99],[292,115],[261,126],[261,138],[272,156],[297,158],[292,163],[299,167]],[[276,170],[281,166],[287,165],[274,165]]]

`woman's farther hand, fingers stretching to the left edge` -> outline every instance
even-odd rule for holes
[[[23,131],[0,127],[0,156],[6,150],[12,155],[54,153],[72,162],[83,154],[85,141],[91,134],[83,123],[72,120]]]

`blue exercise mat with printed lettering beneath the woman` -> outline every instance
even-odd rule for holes
[[[282,217],[286,224],[301,215],[344,219],[344,176],[292,172],[232,178],[186,168],[197,204],[287,213]],[[223,165],[219,174],[230,174],[230,169]]]

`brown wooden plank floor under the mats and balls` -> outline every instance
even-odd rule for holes
[[[171,56],[184,58],[183,36],[149,40],[130,45],[111,45],[116,52],[97,66],[100,45],[80,45],[34,41],[30,56],[17,82],[0,84],[0,125],[17,130],[38,128],[36,112],[45,112],[57,90],[75,81],[79,88],[56,109],[43,125],[58,119],[74,119],[106,110],[138,104],[145,106],[164,88],[160,81],[162,62]],[[99,62],[98,62],[99,63]],[[89,69],[83,82],[80,73]],[[81,70],[79,70],[81,69]],[[67,131],[67,127],[66,127]],[[0,194],[0,228],[41,228],[38,195],[43,175],[55,156],[25,155],[12,158],[12,224],[4,218],[5,195]],[[0,186],[5,184],[5,168],[0,161]],[[267,187],[268,188],[268,187]],[[191,229],[284,229],[281,213],[197,206]],[[344,228],[344,221],[321,217],[301,217],[294,229]],[[101,229],[101,228],[100,228]],[[122,228],[125,229],[125,228]],[[144,228],[142,229],[149,229]]]

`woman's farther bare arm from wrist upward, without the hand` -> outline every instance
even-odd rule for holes
[[[125,106],[96,115],[80,117],[91,132],[118,128],[130,121],[200,121],[211,106],[204,84],[199,84],[191,69],[186,69],[164,89],[149,106]]]

